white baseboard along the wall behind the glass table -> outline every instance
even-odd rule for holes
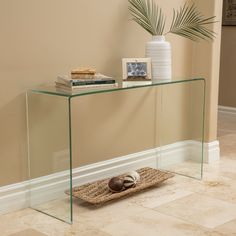
[[[183,141],[127,156],[73,169],[73,185],[125,173],[144,166],[163,168],[186,160],[200,162],[201,143]],[[199,154],[199,155],[198,155]],[[219,142],[204,144],[205,162],[219,159]],[[69,188],[69,171],[43,176],[0,188],[0,214],[65,197]]]

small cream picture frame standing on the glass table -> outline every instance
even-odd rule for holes
[[[150,81],[151,58],[123,58],[122,71],[124,81]]]

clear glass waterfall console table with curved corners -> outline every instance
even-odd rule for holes
[[[201,178],[205,80],[27,92],[31,207],[73,222],[73,186],[150,166]]]

